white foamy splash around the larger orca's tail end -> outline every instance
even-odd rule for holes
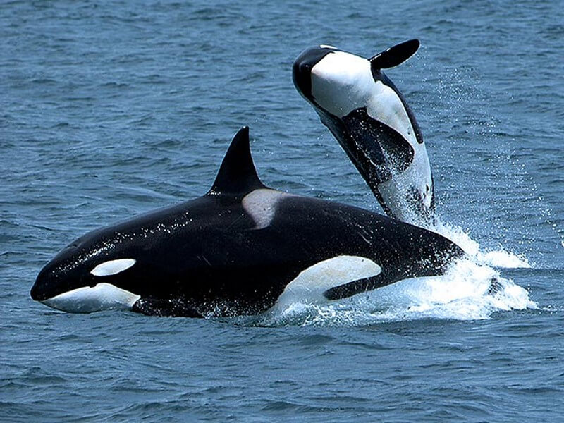
[[[407,279],[322,304],[293,298],[278,303],[255,324],[367,326],[417,319],[478,320],[489,319],[495,312],[537,308],[525,288],[503,278],[498,270],[529,268],[526,257],[503,248],[482,251],[479,243],[461,228],[440,221],[434,231],[467,252],[467,257],[453,263],[443,276]]]

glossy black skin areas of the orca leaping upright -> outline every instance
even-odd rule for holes
[[[401,44],[396,47],[401,49]],[[417,47],[419,47],[419,42],[417,42]],[[417,50],[417,47],[415,47],[415,50]],[[392,47],[392,49],[394,48]],[[412,54],[411,51],[415,52],[415,50],[410,48],[410,52],[407,54],[410,56]],[[314,110],[319,115],[321,123],[329,128],[333,137],[339,142],[350,161],[353,162],[370,190],[374,193],[384,212],[388,216],[396,217],[382,198],[378,185],[391,179],[393,172],[405,171],[405,168],[412,162],[414,156],[413,148],[403,135],[396,130],[368,116],[366,106],[360,106],[346,116],[335,116],[317,103],[312,94],[312,68],[321,59],[334,51],[338,50],[319,46],[302,51],[300,56],[295,59],[292,68],[294,85],[298,92],[314,106]],[[385,56],[386,53],[388,51],[384,51],[375,57]],[[401,57],[399,59],[396,58],[395,60],[388,61],[386,66],[397,66],[404,60]],[[415,131],[415,138],[421,144],[423,136],[415,115],[396,85],[381,71],[381,68],[376,66],[378,63],[381,62],[372,62],[372,78],[374,81],[381,81],[396,92],[407,112],[407,116],[410,118]],[[384,150],[386,154],[384,154]],[[423,206],[416,191],[413,197],[408,200],[410,200],[413,209],[419,210],[419,215],[424,218],[424,221],[427,221],[427,223],[433,221],[435,209],[434,194],[431,195],[430,214]]]

